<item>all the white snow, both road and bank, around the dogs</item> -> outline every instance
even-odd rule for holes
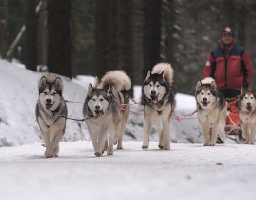
[[[144,116],[131,113],[125,149],[99,158],[86,124],[67,121],[59,157],[46,159],[34,111],[42,75],[0,60],[0,200],[256,198],[256,146],[227,140],[204,147],[197,119],[172,120],[169,151],[158,148],[153,127],[144,151]],[[94,82],[91,76],[62,79],[65,99],[78,102],[84,102],[88,83]],[[134,89],[140,101],[141,88]],[[178,93],[176,101],[174,116],[195,110],[193,96]],[[69,117],[83,118],[82,106],[68,103]],[[138,105],[131,109],[143,113]]]

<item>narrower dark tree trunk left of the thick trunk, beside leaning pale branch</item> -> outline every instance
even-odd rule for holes
[[[26,0],[25,65],[36,71],[37,66],[37,18],[36,1]]]

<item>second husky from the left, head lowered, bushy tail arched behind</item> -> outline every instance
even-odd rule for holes
[[[131,88],[131,80],[124,71],[109,71],[101,79],[96,77],[96,84],[89,84],[85,99],[83,115],[90,119],[85,122],[91,135],[94,154],[99,157],[107,149],[113,154],[113,144],[123,149],[122,140],[129,111],[119,110],[120,104],[128,104],[127,90]],[[129,110],[127,105],[125,109]],[[109,133],[109,144],[107,135]]]

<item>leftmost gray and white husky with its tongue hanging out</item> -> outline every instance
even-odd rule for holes
[[[36,104],[36,119],[45,142],[46,158],[58,156],[59,141],[66,129],[66,119],[53,114],[58,112],[67,116],[67,106],[62,97],[62,90],[60,77],[43,76],[38,84],[39,98]]]

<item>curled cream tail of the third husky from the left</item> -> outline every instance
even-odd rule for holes
[[[173,83],[173,68],[169,63],[158,63],[153,67],[152,74],[155,73],[162,73],[164,71],[164,79],[166,82],[168,82],[170,85]]]

